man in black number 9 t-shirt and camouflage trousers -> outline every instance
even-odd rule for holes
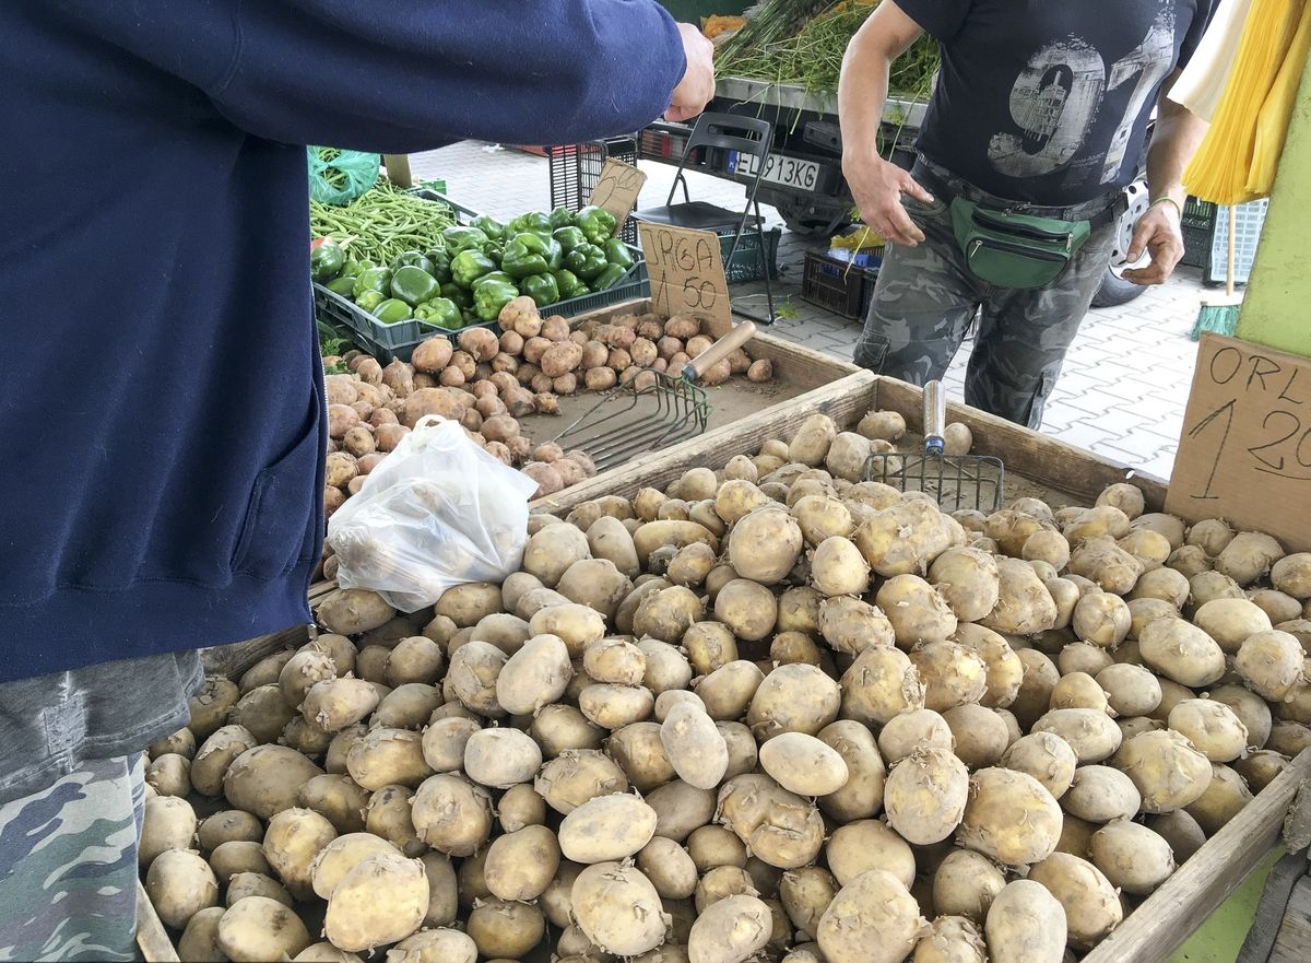
[[[1159,285],[1184,253],[1181,177],[1206,125],[1165,100],[1217,0],[884,0],[842,70],[843,172],[890,241],[856,362],[941,378],[979,328],[966,401],[1037,428],[1110,262],[1147,123],[1151,206],[1125,270]],[[943,66],[910,172],[878,156],[891,62],[922,34]]]

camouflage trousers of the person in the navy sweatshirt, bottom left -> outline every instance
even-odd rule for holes
[[[132,960],[140,754],[0,807],[0,960]]]

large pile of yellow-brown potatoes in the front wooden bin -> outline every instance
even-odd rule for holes
[[[534,514],[503,584],[338,592],[208,680],[147,774],[182,956],[1096,946],[1311,745],[1311,555],[1127,484],[944,514],[859,480],[893,422]]]

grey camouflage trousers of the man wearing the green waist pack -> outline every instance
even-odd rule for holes
[[[916,164],[911,174],[922,173],[924,164]],[[995,201],[941,168],[932,167],[932,174],[957,194]],[[924,241],[914,248],[889,245],[856,344],[856,363],[912,384],[940,379],[978,315],[965,374],[966,404],[1038,428],[1066,349],[1106,273],[1117,227],[1093,231],[1047,287],[1011,290],[970,273],[944,198],[935,194],[932,203],[923,203],[903,197],[903,202]],[[1065,213],[1087,218],[1105,206],[1095,201]],[[1055,216],[1051,209],[1032,213]]]

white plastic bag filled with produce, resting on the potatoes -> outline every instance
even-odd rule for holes
[[[427,416],[328,520],[337,583],[417,611],[454,585],[501,581],[523,559],[536,489],[459,422]]]

